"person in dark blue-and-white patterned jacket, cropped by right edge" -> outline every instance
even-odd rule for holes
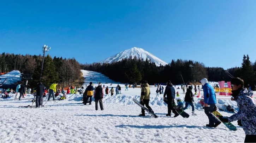
[[[256,140],[256,105],[250,97],[253,91],[244,88],[244,80],[241,78],[233,78],[231,80],[232,97],[237,102],[239,111],[230,116],[220,116],[222,122],[237,121],[239,126],[243,126],[245,132],[245,143],[255,143]]]

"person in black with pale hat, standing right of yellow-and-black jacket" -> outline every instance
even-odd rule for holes
[[[94,91],[94,99],[95,99],[95,109],[98,110],[98,102],[100,102],[100,109],[104,110],[103,108],[103,103],[102,103],[102,98],[104,96],[102,87],[101,87],[101,82],[99,82],[98,86],[96,87]]]

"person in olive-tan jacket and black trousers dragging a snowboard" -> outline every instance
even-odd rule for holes
[[[153,112],[152,108],[149,106],[149,99],[150,99],[150,88],[149,84],[146,80],[142,80],[142,88],[141,88],[141,105],[145,105],[149,111]],[[139,116],[145,116],[145,110],[141,108],[141,114]]]

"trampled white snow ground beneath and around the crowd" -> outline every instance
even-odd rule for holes
[[[100,73],[82,72],[87,85],[89,77],[95,75],[97,79],[101,78],[98,81],[105,88],[110,87],[111,82],[113,87],[117,86]],[[97,86],[96,82],[93,81],[94,86]],[[132,98],[139,100],[140,88],[131,87],[125,91],[124,84],[119,85],[122,94],[106,95],[103,111],[95,110],[95,102],[92,105],[81,104],[82,95],[79,94],[67,95],[66,100],[46,102],[45,107],[40,109],[18,107],[31,105],[31,95],[20,101],[14,100],[14,97],[0,98],[0,142],[244,142],[244,131],[237,122],[233,122],[237,131],[228,130],[224,124],[207,128],[208,118],[201,105],[197,104],[200,98],[195,98],[197,116],[166,117],[167,106],[163,103],[163,94],[155,97],[156,87],[152,86],[150,106],[159,118],[149,114],[140,117],[141,108],[132,101]],[[177,91],[179,98],[183,99],[185,94],[182,94],[182,90]],[[220,105],[227,102],[237,108],[231,100],[218,100]],[[191,115],[191,107],[185,111]],[[224,116],[233,114],[220,113]]]

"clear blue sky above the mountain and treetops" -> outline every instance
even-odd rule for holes
[[[256,0],[1,0],[0,52],[93,63],[140,47],[170,63],[256,60]]]

